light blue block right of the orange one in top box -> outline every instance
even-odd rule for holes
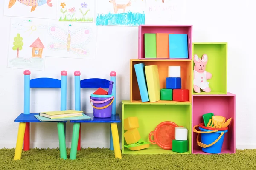
[[[187,34],[169,34],[169,58],[188,58]]]

